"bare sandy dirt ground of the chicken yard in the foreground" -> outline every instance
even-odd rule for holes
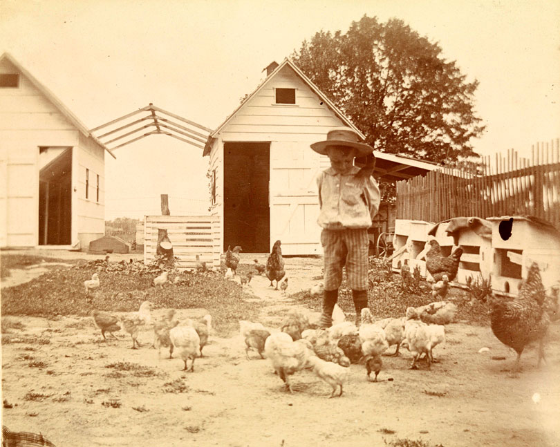
[[[286,265],[290,293],[321,273],[317,258]],[[17,272],[11,278],[2,286],[21,280]],[[250,291],[265,303],[260,321],[276,331],[293,304],[269,284],[255,277]],[[41,432],[56,446],[383,446],[404,438],[446,447],[560,446],[558,323],[550,327],[548,363],[537,369],[536,350],[527,350],[519,377],[508,371],[514,352],[489,327],[453,323],[431,370],[409,370],[411,356],[402,350],[384,356],[379,383],[367,381],[363,365],[351,365],[342,397],[328,399],[330,387],[310,371],[292,378],[294,394],[284,391],[268,361],[256,352],[245,358],[239,335],[212,336],[194,372],[183,372],[183,361],[165,350],[158,359],[149,348],[149,327],[140,333],[142,348],[131,350],[124,332],[102,341],[91,318],[6,318],[12,327],[2,345],[2,399],[12,408],[2,409],[2,422]],[[479,354],[483,347],[489,352]],[[136,368],[126,370],[125,362]]]

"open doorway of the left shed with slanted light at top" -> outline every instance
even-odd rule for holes
[[[39,245],[72,242],[72,149],[39,148]]]

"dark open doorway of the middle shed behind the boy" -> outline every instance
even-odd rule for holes
[[[270,143],[224,143],[223,249],[270,249]]]

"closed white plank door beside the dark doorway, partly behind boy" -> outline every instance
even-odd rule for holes
[[[321,254],[319,155],[301,142],[274,142],[271,155],[270,245],[281,240],[283,254]]]

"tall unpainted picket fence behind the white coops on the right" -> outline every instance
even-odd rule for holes
[[[458,216],[531,215],[560,229],[559,140],[483,159],[478,173],[448,169],[397,182],[397,218],[441,222]]]

